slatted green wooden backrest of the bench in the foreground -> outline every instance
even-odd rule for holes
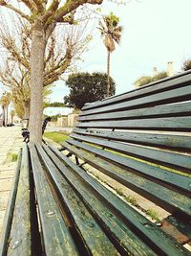
[[[191,72],[85,105],[65,147],[190,221]]]

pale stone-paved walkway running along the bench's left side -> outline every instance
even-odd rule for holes
[[[0,236],[16,166],[16,162],[11,162],[11,155],[18,153],[21,146],[20,127],[0,128]]]

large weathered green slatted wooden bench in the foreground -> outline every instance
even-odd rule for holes
[[[85,105],[78,121],[59,151],[23,146],[0,255],[191,255],[191,73]]]

